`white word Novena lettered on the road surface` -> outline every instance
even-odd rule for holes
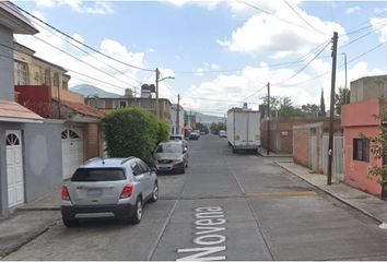
[[[224,245],[226,237],[220,233],[225,230],[221,227],[226,223],[221,206],[197,207],[195,210],[195,235],[194,243],[202,246],[199,248],[178,249],[177,253],[192,253],[177,260],[225,260],[225,255],[215,255],[226,250]]]

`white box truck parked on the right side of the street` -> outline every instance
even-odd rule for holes
[[[260,112],[247,108],[231,108],[227,111],[227,140],[233,153],[257,153],[260,146]]]

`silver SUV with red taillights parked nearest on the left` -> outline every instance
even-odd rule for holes
[[[93,158],[62,187],[62,221],[67,227],[75,226],[80,218],[94,217],[138,224],[143,204],[157,199],[157,176],[141,159]]]

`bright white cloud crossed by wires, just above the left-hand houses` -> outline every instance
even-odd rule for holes
[[[44,17],[43,17],[44,19]],[[33,22],[37,23],[37,22]],[[81,43],[84,43],[84,37],[80,34],[72,35],[75,39]],[[55,49],[33,36],[26,35],[15,35],[15,38],[22,45],[25,45],[33,50],[35,50],[35,56],[43,58],[51,63],[55,63],[64,69],[79,72],[85,74],[86,76],[81,76],[74,72],[69,72],[71,75],[70,86],[74,86],[81,83],[93,84],[97,87],[101,87],[105,91],[124,94],[124,90],[126,87],[137,88],[139,92],[139,87],[141,85],[141,75],[138,69],[130,68],[128,66],[118,63],[108,59],[102,55],[93,53],[89,49],[84,49],[80,44],[73,43],[78,47],[82,47],[83,50],[87,50],[90,55],[86,55],[75,47],[71,46],[69,43],[66,43],[61,37],[55,36],[51,33],[47,33],[43,31],[37,34],[38,38],[44,39],[45,41],[54,45],[55,47],[66,50],[72,56],[77,57],[79,60],[90,63],[97,68],[101,71],[107,72],[105,74],[97,69],[91,68],[87,64],[69,57],[68,55],[61,52],[60,50]],[[144,67],[144,52],[132,52],[127,49],[126,46],[120,44],[119,41],[113,39],[104,39],[102,40],[99,48],[96,48],[103,53],[110,56],[117,60],[125,61],[129,64],[134,64],[137,67]],[[113,76],[112,76],[113,75]],[[93,80],[93,79],[95,80]],[[140,81],[137,81],[140,80]],[[105,82],[105,83],[103,83]]]

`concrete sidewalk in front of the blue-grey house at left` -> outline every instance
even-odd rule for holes
[[[0,259],[16,251],[60,221],[59,193],[59,189],[56,189],[15,209],[10,217],[0,219]]]

